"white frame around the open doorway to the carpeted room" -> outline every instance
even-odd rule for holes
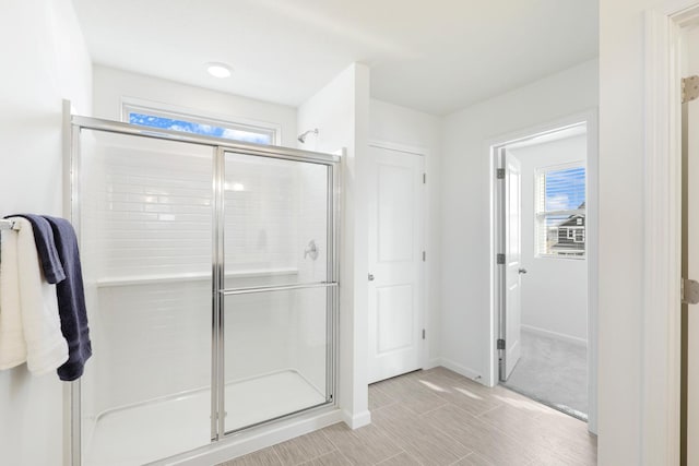
[[[494,138],[486,142],[489,166],[490,186],[490,303],[488,313],[488,335],[485,367],[488,371],[488,385],[498,383],[497,339],[500,328],[501,287],[500,267],[497,265],[497,253],[501,242],[502,219],[499,215],[498,180],[500,150],[516,142],[525,141],[558,130],[587,124],[588,159],[587,159],[587,261],[588,261],[588,430],[597,432],[597,294],[599,294],[599,135],[597,109],[570,115],[554,121],[530,127],[520,131]],[[505,310],[503,310],[505,312]]]

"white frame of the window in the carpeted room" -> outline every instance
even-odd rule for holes
[[[585,208],[570,208],[570,210],[560,210],[560,211],[546,211],[546,200],[544,198],[544,205],[542,206],[540,203],[541,189],[542,183],[540,182],[542,175],[546,175],[552,171],[562,171],[569,170],[572,168],[582,168],[584,170],[585,176],[585,188],[584,188],[584,204]],[[545,189],[545,187],[543,187]],[[545,194],[544,194],[545,196]],[[571,240],[576,244],[583,244],[582,253],[566,253],[566,252],[543,252],[545,248],[542,248],[541,240],[541,228],[546,229],[545,219],[549,216],[573,216],[573,215],[584,215],[587,220],[587,205],[588,205],[588,166],[585,160],[574,160],[566,164],[558,165],[547,165],[537,167],[534,170],[534,258],[536,259],[571,259],[571,260],[585,260],[588,256],[588,241],[587,241],[587,225],[584,226],[570,226],[566,228],[566,238]],[[576,235],[577,229],[582,229],[582,240],[578,240],[578,236]],[[560,235],[560,234],[559,234]],[[548,236],[548,232],[545,231],[545,236]]]

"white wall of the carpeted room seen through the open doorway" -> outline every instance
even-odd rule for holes
[[[588,157],[587,135],[580,134],[508,151],[522,174],[522,328],[555,338],[588,342],[588,266],[585,259],[535,254],[536,170]]]

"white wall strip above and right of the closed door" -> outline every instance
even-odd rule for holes
[[[427,199],[425,215],[427,367],[437,366],[440,346],[440,117],[423,113],[372,98],[369,107],[371,142],[388,143],[396,148],[417,150],[425,155]]]

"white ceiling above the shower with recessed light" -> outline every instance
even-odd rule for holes
[[[291,106],[353,61],[374,97],[446,115],[597,56],[597,0],[73,3],[95,63]]]

